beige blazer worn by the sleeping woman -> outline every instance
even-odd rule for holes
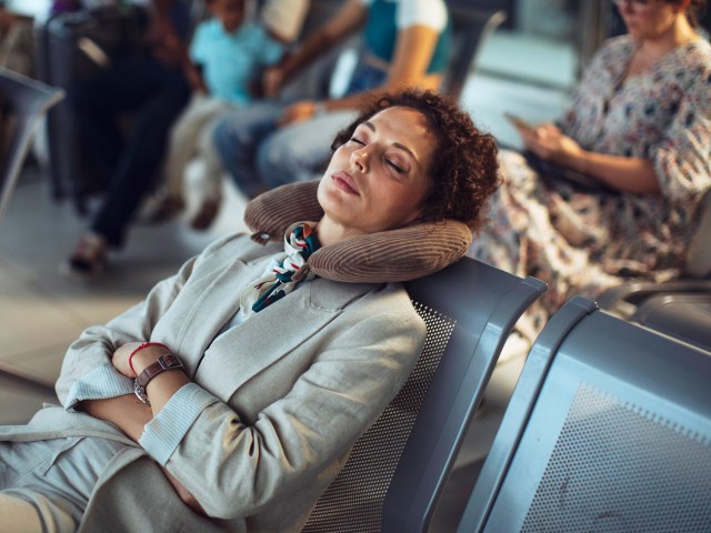
[[[80,531],[299,531],[356,439],[397,394],[425,336],[400,284],[316,279],[216,339],[279,247],[231,235],[160,282],[147,300],[70,346],[57,392],[131,341],[163,342],[217,401],[166,466],[207,520],[177,497],[156,462],[112,424],[59,406],[0,440],[96,435],[127,447],[101,475]]]

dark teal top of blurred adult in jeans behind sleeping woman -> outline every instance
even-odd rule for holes
[[[365,47],[375,57],[390,62],[394,53],[395,41],[398,39],[398,28],[395,16],[399,2],[374,0],[368,8],[368,22],[363,31]],[[447,68],[452,49],[452,22],[447,21],[447,27],[440,33],[432,54],[432,60],[427,69],[428,74],[442,72]]]

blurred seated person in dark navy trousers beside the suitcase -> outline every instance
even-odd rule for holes
[[[62,270],[91,276],[101,272],[109,247],[120,248],[146,193],[153,185],[168,132],[190,99],[183,71],[188,61],[189,11],[181,0],[152,0],[150,50],[117,62],[68,91],[86,151],[106,180],[106,197],[90,229]],[[117,118],[134,112],[128,138]]]

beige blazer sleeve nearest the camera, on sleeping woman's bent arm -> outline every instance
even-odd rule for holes
[[[402,290],[364,295],[327,330],[312,364],[254,423],[216,401],[168,460],[210,516],[250,516],[294,494],[318,497],[338,473],[334,463],[404,384],[427,334]]]

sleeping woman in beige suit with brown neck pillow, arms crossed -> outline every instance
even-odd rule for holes
[[[218,240],[70,346],[63,408],[0,428],[0,531],[301,531],[421,352],[398,281],[459,260],[498,183],[493,138],[432,92],[333,149],[248,205],[276,242]]]

